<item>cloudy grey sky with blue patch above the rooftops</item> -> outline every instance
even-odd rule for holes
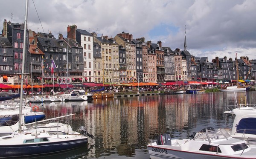
[[[24,23],[26,0],[4,0],[0,21]],[[195,57],[256,59],[256,0],[29,0],[28,29],[67,37],[67,26],[114,37],[128,32]],[[0,25],[0,30],[3,25]]]

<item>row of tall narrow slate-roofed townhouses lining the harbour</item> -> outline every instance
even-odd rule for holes
[[[195,57],[184,50],[152,43],[119,33],[114,38],[98,37],[95,32],[67,26],[67,38],[60,33],[27,30],[27,46],[23,45],[24,26],[3,22],[0,36],[0,82],[18,84],[21,79],[23,47],[26,47],[26,84],[84,82],[114,83],[168,81],[219,82],[256,78],[256,61],[248,57],[227,59]],[[54,64],[53,64],[54,63]],[[238,66],[238,67],[237,67]],[[238,71],[237,71],[238,70]],[[237,74],[239,74],[237,76]]]

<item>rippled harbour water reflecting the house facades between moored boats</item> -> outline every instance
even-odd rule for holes
[[[245,95],[248,103],[255,103],[254,92],[218,92],[50,103],[44,111],[47,118],[76,113],[69,117],[73,130],[84,125],[95,136],[89,140],[94,147],[86,152],[88,158],[149,159],[146,145],[161,133],[184,138],[205,127],[231,125],[223,106],[244,103]]]

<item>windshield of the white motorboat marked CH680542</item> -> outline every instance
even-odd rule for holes
[[[227,133],[224,129],[218,130],[207,130],[206,132],[199,132],[194,139],[207,139],[209,143],[212,143],[215,139],[227,139],[230,137],[230,134]]]

